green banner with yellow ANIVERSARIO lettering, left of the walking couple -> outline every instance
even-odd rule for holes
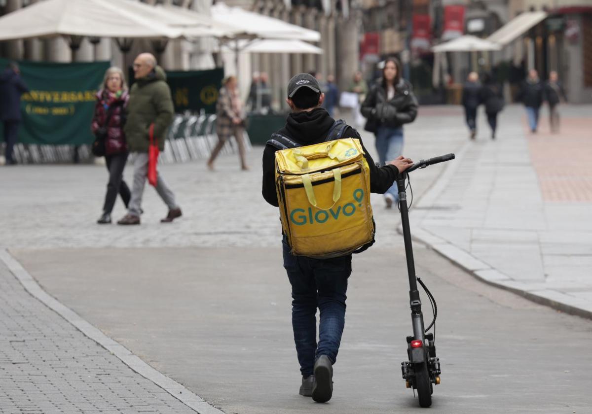
[[[8,61],[0,59],[0,70]],[[20,62],[21,76],[30,92],[21,97],[24,144],[90,144],[95,94],[109,62]],[[0,128],[1,130],[2,128]],[[0,131],[0,140],[2,140]]]

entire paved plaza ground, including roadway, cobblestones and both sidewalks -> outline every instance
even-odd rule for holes
[[[454,107],[422,108],[407,128],[406,156],[457,154],[412,177],[411,228],[424,243],[415,245],[417,271],[440,310],[438,412],[592,406],[588,319],[487,286],[433,251],[489,283],[587,315],[589,110],[563,108],[559,135],[543,119],[530,136],[519,106],[501,115],[497,141],[481,116],[469,142]],[[363,138],[373,151],[372,137]],[[0,248],[8,250],[0,260],[0,413],[415,409],[399,368],[410,322],[398,212],[379,195],[377,244],[355,258],[350,278],[334,398],[314,405],[297,395],[289,284],[278,214],[260,196],[261,152],[249,154],[246,173],[235,156],[221,157],[214,173],[202,162],[162,167],[184,217],[160,224],[166,208],[146,187],[137,227],[95,224],[104,167],[0,169]],[[118,201],[114,218],[123,214]]]

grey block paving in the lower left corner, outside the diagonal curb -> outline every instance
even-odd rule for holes
[[[194,413],[29,295],[0,261],[0,413]]]

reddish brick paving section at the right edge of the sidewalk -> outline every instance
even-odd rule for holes
[[[557,134],[551,134],[546,117],[540,119],[537,134],[531,134],[526,123],[525,118],[543,200],[592,202],[592,117],[563,117]]]

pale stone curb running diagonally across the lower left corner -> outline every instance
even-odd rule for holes
[[[145,363],[137,357],[137,355],[134,355],[126,347],[107,337],[107,335],[103,334],[99,329],[95,328],[95,326],[92,326],[89,322],[82,319],[81,316],[72,309],[67,308],[67,306],[63,305],[53,296],[49,295],[49,293],[45,292],[33,276],[31,276],[7,250],[0,250],[0,261],[4,262],[8,267],[8,270],[14,274],[14,277],[17,278],[22,284],[22,287],[24,287],[31,296],[35,297],[48,308],[62,316],[62,318],[74,325],[75,328],[81,331],[86,337],[91,338],[97,344],[101,345],[101,347],[111,352],[111,354],[119,358],[133,371],[136,371],[147,380],[152,381],[198,414],[224,414],[223,411],[210,405],[197,394],[192,393],[175,380],[170,379],[155,370],[155,368],[149,366],[149,364]]]

